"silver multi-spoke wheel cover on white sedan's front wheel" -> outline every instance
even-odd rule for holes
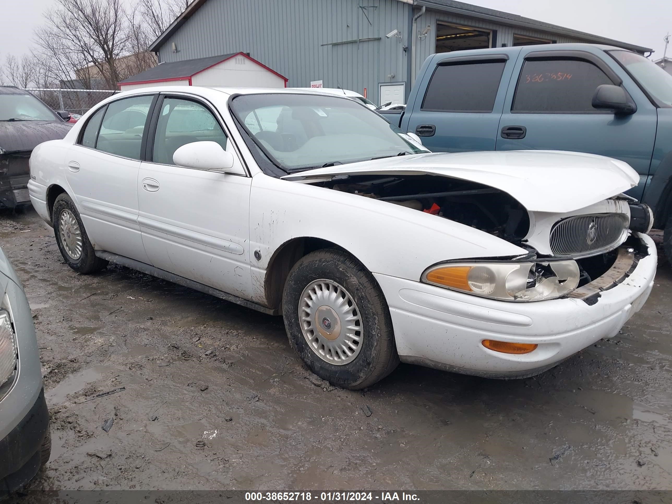
[[[308,346],[323,361],[343,366],[360,354],[362,316],[343,286],[325,279],[308,284],[299,298],[298,317]]]

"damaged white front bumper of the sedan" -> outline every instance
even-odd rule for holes
[[[638,246],[623,245],[605,274],[554,300],[503,302],[374,274],[390,307],[399,358],[462,374],[523,378],[615,336],[646,302],[656,273],[653,240],[641,233],[631,240]],[[485,339],[538,346],[516,355],[486,348]]]

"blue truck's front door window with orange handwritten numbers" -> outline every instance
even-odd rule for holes
[[[601,84],[613,82],[587,61],[526,60],[511,112],[604,113],[591,105],[595,89]]]

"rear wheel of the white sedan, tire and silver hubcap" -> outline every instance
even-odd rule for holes
[[[82,274],[106,267],[108,261],[95,255],[75,203],[65,193],[59,194],[54,202],[52,222],[60,255],[67,265]]]

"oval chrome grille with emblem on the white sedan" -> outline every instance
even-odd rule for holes
[[[554,255],[595,255],[625,239],[630,219],[625,214],[575,215],[559,220],[550,231]]]

